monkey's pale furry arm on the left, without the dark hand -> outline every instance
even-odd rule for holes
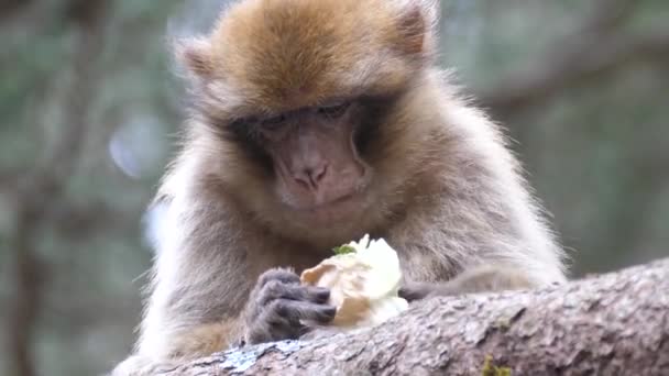
[[[256,272],[229,213],[205,199],[166,195],[151,209],[156,258],[136,345],[142,357],[208,355],[242,334],[240,316]]]

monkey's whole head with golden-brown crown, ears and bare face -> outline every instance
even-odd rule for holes
[[[338,244],[381,226],[420,167],[408,102],[436,3],[243,0],[184,42],[209,178],[282,235]]]

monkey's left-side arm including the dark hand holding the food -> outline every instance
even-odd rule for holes
[[[151,297],[136,355],[119,368],[142,371],[114,375],[150,375],[156,365],[206,356],[242,339],[295,339],[305,330],[300,319],[334,316],[328,290],[299,286],[295,273],[273,272],[286,261],[267,252],[274,245],[243,226],[231,203],[219,202],[200,193],[156,203]]]

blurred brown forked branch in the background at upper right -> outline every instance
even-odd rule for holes
[[[581,25],[546,47],[529,68],[478,95],[498,119],[541,108],[551,97],[601,80],[632,63],[669,60],[669,29],[629,33],[621,27],[639,5],[634,0],[596,0]]]

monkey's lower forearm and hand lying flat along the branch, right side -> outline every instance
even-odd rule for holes
[[[406,283],[398,291],[407,301],[438,296],[518,290],[538,287],[522,270],[509,266],[479,266],[443,283]]]

